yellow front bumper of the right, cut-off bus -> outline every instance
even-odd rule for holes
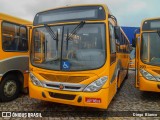
[[[139,89],[142,91],[160,92],[160,82],[149,81],[144,77],[140,77]]]

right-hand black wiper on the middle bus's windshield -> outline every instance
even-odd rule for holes
[[[85,24],[85,21],[81,21],[74,29],[73,31],[70,33],[69,35],[69,30],[67,29],[67,37],[66,37],[66,42],[67,42],[67,45],[66,45],[66,50],[68,50],[68,41],[72,39],[72,36],[73,35],[76,35],[77,32],[84,26]]]

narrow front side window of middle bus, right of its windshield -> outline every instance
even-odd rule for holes
[[[111,53],[115,53],[116,52],[116,41],[115,41],[114,27],[112,24],[109,24],[109,29],[110,29]]]

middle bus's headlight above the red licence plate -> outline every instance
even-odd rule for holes
[[[106,83],[107,80],[108,80],[107,76],[101,77],[98,80],[89,84],[83,91],[85,91],[85,92],[96,92],[96,91],[98,91],[99,89],[102,88],[102,86]]]

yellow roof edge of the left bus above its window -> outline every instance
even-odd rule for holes
[[[23,24],[23,25],[32,25],[32,22],[28,20],[17,18],[4,13],[0,13],[0,20],[6,20],[6,21],[17,23],[17,24]]]

